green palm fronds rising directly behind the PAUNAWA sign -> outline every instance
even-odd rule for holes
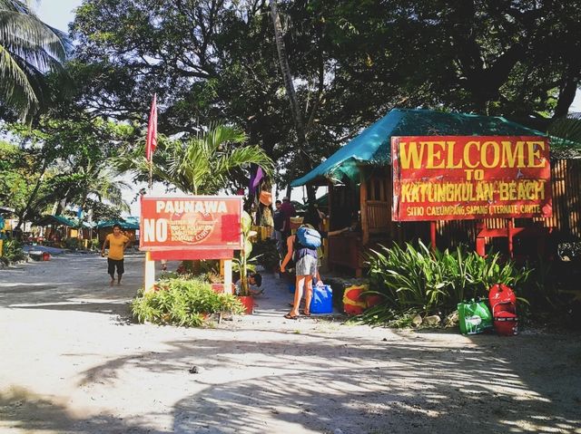
[[[251,163],[271,175],[274,163],[259,146],[245,146],[246,134],[237,128],[215,125],[189,140],[160,140],[153,155],[153,178],[194,195],[213,195],[226,188],[232,176]],[[149,164],[143,149],[119,160],[120,170],[146,176]]]

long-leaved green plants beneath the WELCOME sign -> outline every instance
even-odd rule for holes
[[[417,248],[381,247],[372,251],[368,263],[368,293],[381,294],[383,304],[359,317],[367,323],[389,323],[417,313],[449,313],[462,300],[487,297],[494,284],[515,288],[530,273],[510,261],[501,264],[498,254],[482,257],[464,246],[432,252],[421,241]]]

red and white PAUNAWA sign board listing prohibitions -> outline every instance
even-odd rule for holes
[[[240,197],[142,197],[142,250],[241,249]]]

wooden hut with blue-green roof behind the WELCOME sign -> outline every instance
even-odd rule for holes
[[[546,136],[537,130],[501,117],[445,113],[428,110],[392,110],[363,130],[359,136],[326,159],[291,187],[305,184],[329,187],[330,231],[350,226],[357,213],[360,231],[329,237],[328,264],[347,266],[360,275],[363,255],[372,246],[389,245],[421,238],[429,242],[428,222],[394,222],[391,219],[392,136]],[[551,154],[553,216],[550,218],[440,220],[438,247],[465,243],[502,244],[512,240],[516,247],[543,246],[553,233],[559,240],[581,237],[581,158],[575,152]],[[530,242],[529,240],[533,240]],[[539,242],[540,241],[540,242]],[[536,250],[536,249],[535,249]]]

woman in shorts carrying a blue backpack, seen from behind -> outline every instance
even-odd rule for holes
[[[294,258],[295,261],[295,291],[294,303],[290,313],[284,315],[289,320],[299,318],[300,299],[302,292],[305,292],[305,308],[301,314],[310,316],[310,299],[312,298],[312,279],[318,275],[317,272],[317,247],[320,246],[320,234],[312,226],[309,217],[305,217],[303,224],[297,229],[296,235],[287,238],[287,254],[281,263],[281,273]]]

